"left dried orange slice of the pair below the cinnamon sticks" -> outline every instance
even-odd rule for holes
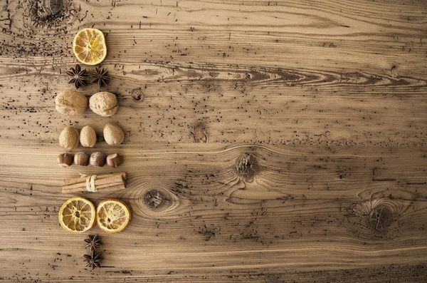
[[[59,223],[68,232],[83,233],[95,224],[95,206],[85,197],[71,197],[59,210]]]

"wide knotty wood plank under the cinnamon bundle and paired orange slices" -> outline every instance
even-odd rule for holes
[[[0,207],[0,228],[14,238],[0,262],[18,267],[23,257],[38,254],[23,264],[27,276],[46,267],[51,277],[73,276],[83,264],[83,236],[58,229],[56,218],[68,197],[60,193],[61,177],[82,168],[56,169],[55,148],[1,149],[10,159],[0,175],[0,197],[8,200]],[[126,233],[103,238],[106,267],[95,274],[254,268],[315,274],[426,261],[424,148],[174,144],[120,151],[129,187],[108,196],[130,204],[132,223]],[[236,168],[246,166],[238,162],[245,153],[253,154],[252,166]],[[16,170],[19,182],[9,177]],[[152,189],[165,197],[158,210],[144,203]],[[96,203],[107,195],[88,197]]]

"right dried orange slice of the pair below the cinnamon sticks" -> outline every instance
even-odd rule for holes
[[[130,210],[125,202],[115,199],[102,200],[96,208],[96,222],[107,233],[125,230],[130,222]]]

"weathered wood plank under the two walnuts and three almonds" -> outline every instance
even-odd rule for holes
[[[66,125],[83,126],[88,119],[102,132],[105,119],[90,110],[72,120],[55,111],[54,96],[70,88],[60,76],[64,68],[39,72],[8,62],[0,76],[2,137],[52,142]],[[420,78],[172,63],[111,68],[107,89],[120,94],[121,107],[112,119],[127,130],[127,142],[191,142],[200,127],[211,143],[426,144],[427,84]],[[96,91],[91,86],[84,93]]]

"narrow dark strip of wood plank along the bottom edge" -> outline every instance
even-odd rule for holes
[[[60,258],[60,257],[58,257]],[[248,271],[231,270],[230,272],[206,272],[190,275],[180,274],[179,270],[169,272],[167,275],[155,276],[137,275],[134,270],[122,270],[111,272],[107,276],[100,277],[97,274],[84,276],[83,274],[64,277],[37,277],[42,282],[374,282],[374,283],[423,283],[426,282],[425,265],[390,265],[381,268],[338,269],[315,272],[295,272],[283,269],[275,274],[270,274],[271,269],[255,268]],[[211,274],[212,273],[212,274]],[[0,277],[12,282],[37,282],[38,279],[28,276]]]

